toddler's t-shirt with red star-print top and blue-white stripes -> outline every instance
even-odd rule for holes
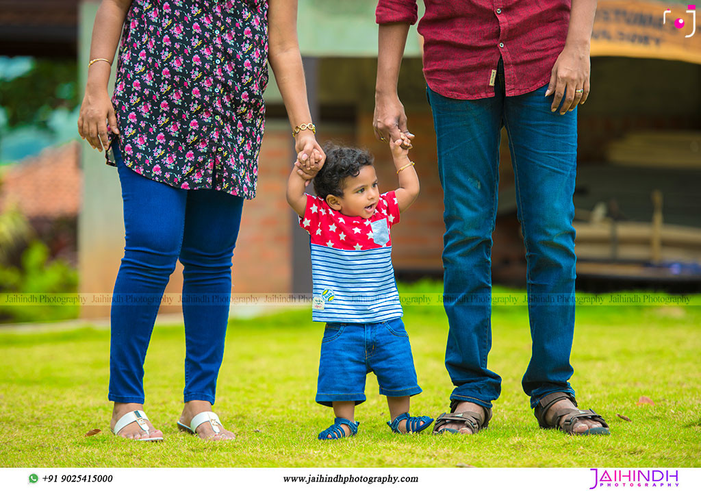
[[[309,232],[312,318],[370,323],[401,317],[390,229],[400,220],[395,191],[381,194],[370,218],[348,217],[306,195],[299,226]]]

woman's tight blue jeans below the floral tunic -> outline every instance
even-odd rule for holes
[[[165,285],[180,260],[184,401],[214,404],[243,198],[150,180],[125,166],[116,142],[113,147],[126,234],[111,304],[109,400],[144,403],[144,358]]]

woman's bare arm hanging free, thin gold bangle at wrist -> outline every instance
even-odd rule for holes
[[[88,68],[85,97],[78,118],[78,133],[83,140],[88,140],[93,148],[100,151],[103,147],[107,148],[109,142],[106,121],[109,120],[111,130],[119,134],[114,107],[107,93],[107,84],[124,18],[131,4],[132,0],[102,0],[95,15],[90,60],[104,58],[109,60],[109,63],[97,61]]]

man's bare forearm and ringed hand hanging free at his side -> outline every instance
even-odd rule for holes
[[[584,104],[590,90],[590,46],[597,0],[572,0],[567,39],[550,74],[550,85],[545,96],[552,95],[550,110],[557,110],[564,97],[560,114],[573,111]],[[577,92],[580,90],[580,92]]]

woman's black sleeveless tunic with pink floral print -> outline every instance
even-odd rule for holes
[[[126,166],[173,187],[252,199],[268,2],[133,0],[121,39],[112,96],[120,135],[109,135]]]

